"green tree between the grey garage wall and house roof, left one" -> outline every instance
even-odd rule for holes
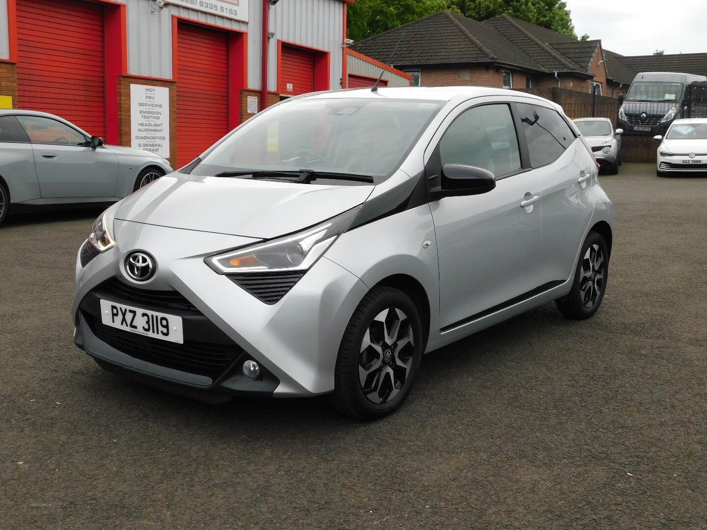
[[[445,9],[462,14],[458,4],[463,0],[356,0],[349,4],[346,36],[362,40]]]

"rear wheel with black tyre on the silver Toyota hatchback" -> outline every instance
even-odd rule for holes
[[[580,252],[570,293],[555,300],[557,309],[573,319],[587,319],[602,305],[609,275],[609,252],[604,238],[589,232]]]

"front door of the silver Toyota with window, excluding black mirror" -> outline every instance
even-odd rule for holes
[[[440,328],[480,317],[537,288],[540,187],[524,169],[511,107],[486,103],[452,113],[426,172],[446,163],[483,167],[496,189],[430,203],[440,269]],[[527,158],[527,157],[523,157]]]

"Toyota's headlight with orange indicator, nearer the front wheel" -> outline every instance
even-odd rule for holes
[[[306,270],[349,228],[361,206],[296,234],[206,258],[219,274]]]

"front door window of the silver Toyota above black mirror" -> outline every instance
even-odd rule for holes
[[[518,135],[508,105],[481,105],[460,114],[440,141],[440,160],[489,170],[496,177],[520,170]]]

